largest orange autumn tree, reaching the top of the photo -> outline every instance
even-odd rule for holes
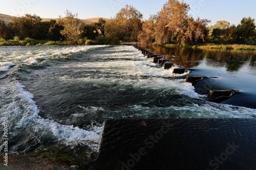
[[[139,41],[141,43],[164,43],[190,44],[204,41],[207,37],[207,19],[196,19],[188,15],[190,8],[185,2],[168,0],[155,20],[146,20],[143,23]],[[148,28],[149,23],[152,26]]]

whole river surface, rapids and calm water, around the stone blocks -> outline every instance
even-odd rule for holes
[[[190,68],[184,76],[218,77],[212,88],[239,93],[208,102],[184,79],[164,79],[178,75],[133,46],[0,47],[0,113],[1,123],[8,113],[9,153],[54,142],[96,149],[108,118],[256,117],[255,52],[159,49]]]

